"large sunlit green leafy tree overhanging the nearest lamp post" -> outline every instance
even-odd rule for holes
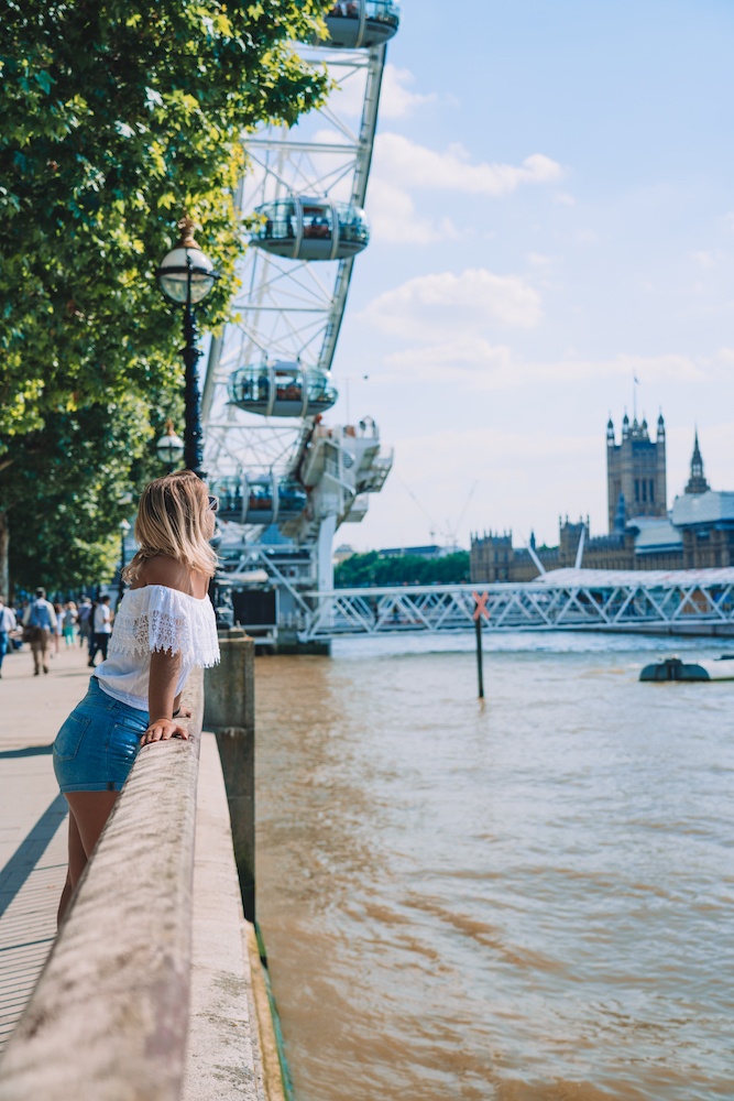
[[[6,3],[0,470],[28,491],[26,437],[48,454],[55,417],[178,384],[179,317],[163,303],[155,269],[185,211],[205,227],[201,243],[222,276],[206,323],[223,321],[244,248],[233,199],[241,139],[264,121],[294,122],[325,94],[326,73],[293,50],[318,33],[324,7]],[[35,490],[31,505],[44,500],[43,479]],[[0,497],[0,586],[15,506]]]

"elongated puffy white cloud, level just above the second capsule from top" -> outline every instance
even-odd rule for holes
[[[460,144],[443,153],[418,145],[403,134],[377,134],[374,145],[374,171],[380,178],[402,187],[423,187],[490,195],[508,195],[521,184],[555,183],[563,171],[543,153],[527,156],[522,165],[472,164]]]

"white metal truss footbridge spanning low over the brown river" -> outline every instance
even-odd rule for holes
[[[563,573],[563,571],[559,571]],[[681,570],[638,578],[613,575],[583,582],[402,586],[315,593],[302,621],[303,641],[395,632],[439,634],[474,626],[486,595],[483,629],[516,631],[638,631],[734,634],[734,569]],[[599,571],[605,574],[605,571]]]

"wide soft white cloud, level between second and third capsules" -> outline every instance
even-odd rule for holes
[[[419,341],[481,336],[496,324],[530,328],[540,316],[540,297],[528,283],[483,268],[419,275],[379,295],[360,315],[382,333]]]

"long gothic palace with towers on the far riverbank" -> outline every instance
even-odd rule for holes
[[[473,535],[472,581],[532,581],[540,569],[577,565],[579,544],[584,569],[701,569],[734,566],[734,492],[712,490],[703,473],[698,432],[691,477],[668,511],[665,422],[656,438],[647,421],[624,415],[617,444],[606,425],[609,535],[590,537],[589,521],[560,524],[557,547],[514,547],[512,532]]]

